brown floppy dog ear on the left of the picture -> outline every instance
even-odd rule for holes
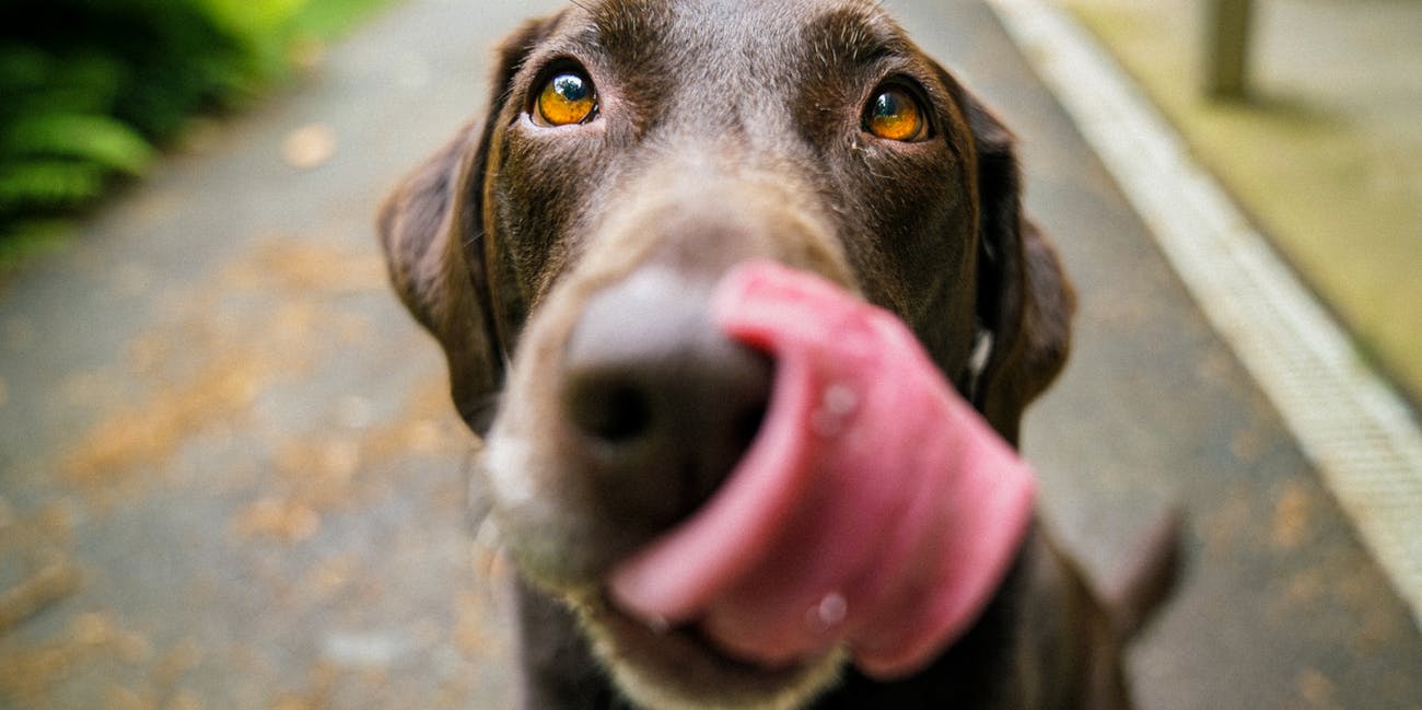
[[[455,406],[483,434],[503,384],[505,349],[483,256],[483,176],[489,141],[513,75],[556,17],[503,40],[485,118],[459,134],[395,188],[380,209],[390,277],[415,319],[439,340]]]

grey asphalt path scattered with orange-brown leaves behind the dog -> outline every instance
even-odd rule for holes
[[[1045,516],[1109,573],[1189,515],[1142,707],[1422,707],[1406,609],[991,13],[887,4],[1015,128],[1081,292],[1025,425]],[[508,707],[475,443],[371,221],[553,6],[391,10],[3,286],[0,707]]]

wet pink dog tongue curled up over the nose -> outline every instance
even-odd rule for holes
[[[769,411],[717,495],[613,571],[613,598],[748,660],[845,645],[870,674],[913,673],[1005,575],[1031,470],[902,322],[816,276],[741,265],[712,314],[775,357]]]

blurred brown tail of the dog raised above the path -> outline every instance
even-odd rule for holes
[[[1102,589],[1102,602],[1122,640],[1135,636],[1175,590],[1183,565],[1183,529],[1179,509],[1159,515],[1128,563]]]

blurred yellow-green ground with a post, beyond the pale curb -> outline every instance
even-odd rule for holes
[[[1359,351],[1422,401],[1422,3],[1059,4],[1177,127]],[[1221,60],[1231,48],[1237,63]]]

